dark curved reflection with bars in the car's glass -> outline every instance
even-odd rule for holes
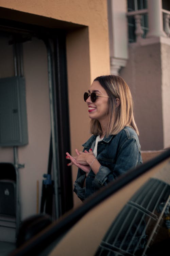
[[[169,213],[170,185],[148,180],[113,221],[95,255],[148,255],[168,241]]]

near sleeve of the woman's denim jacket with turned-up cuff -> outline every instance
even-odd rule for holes
[[[118,152],[114,169],[110,170],[109,168],[101,165],[95,176],[93,185],[97,188],[106,186],[120,174],[136,167],[139,163],[142,163],[141,158],[139,159],[139,155],[140,151],[136,143],[136,139],[127,139]]]

